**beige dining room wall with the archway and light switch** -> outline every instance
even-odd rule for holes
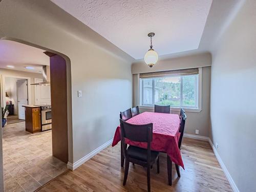
[[[50,1],[3,0],[0,17],[0,37],[67,55],[69,162],[111,140],[132,106],[133,58]]]

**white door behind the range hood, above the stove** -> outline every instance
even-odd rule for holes
[[[42,79],[35,78],[35,83],[42,82]],[[35,103],[46,104],[51,103],[51,87],[35,86]]]

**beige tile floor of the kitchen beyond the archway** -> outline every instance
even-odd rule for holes
[[[5,191],[34,191],[65,172],[67,165],[52,156],[51,131],[31,134],[25,122],[3,129]]]

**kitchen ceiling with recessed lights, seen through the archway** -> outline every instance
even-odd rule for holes
[[[41,73],[42,66],[50,65],[50,59],[44,52],[45,50],[19,42],[0,40],[0,68]],[[27,66],[34,69],[26,69]]]

